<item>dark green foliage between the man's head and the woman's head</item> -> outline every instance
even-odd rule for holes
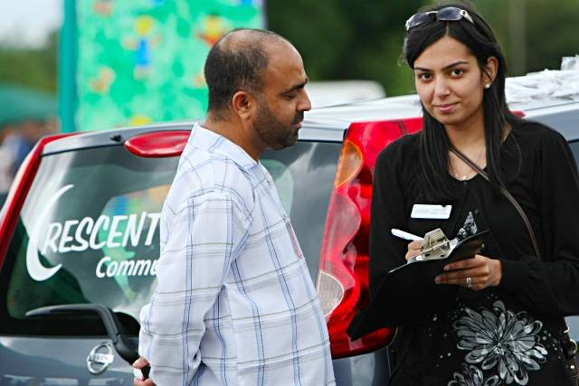
[[[378,80],[388,94],[413,91],[398,58],[404,22],[422,0],[268,1],[269,28],[293,42],[312,80]]]

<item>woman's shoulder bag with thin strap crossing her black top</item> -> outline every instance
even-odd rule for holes
[[[465,164],[469,165],[473,170],[475,170],[478,174],[480,174],[485,180],[487,180],[490,183],[489,174],[487,174],[484,170],[482,170],[479,165],[473,162],[468,156],[464,155],[464,153],[462,153],[456,147],[451,145],[450,150],[452,153],[458,156]],[[507,198],[507,200],[513,204],[518,214],[521,216],[521,219],[523,219],[523,221],[525,222],[528,234],[531,237],[531,241],[533,241],[533,248],[535,249],[536,259],[538,259],[539,261],[543,261],[543,258],[541,257],[541,250],[539,249],[539,246],[536,242],[535,232],[531,227],[531,222],[528,221],[527,214],[525,213],[523,208],[521,208],[521,206],[518,204],[517,199],[513,197],[511,193],[508,193],[507,188],[505,188],[501,184],[499,189],[500,193],[502,193]],[[567,339],[566,342],[567,347],[565,347],[567,364],[569,365],[569,369],[574,377],[575,383],[579,385],[579,368],[577,367],[576,364],[577,358],[575,357],[575,354],[577,353],[577,344],[573,339],[571,339],[571,336],[569,335],[569,327],[565,322],[565,318],[563,318],[563,325],[565,325],[565,331],[563,332],[563,334],[565,334]]]

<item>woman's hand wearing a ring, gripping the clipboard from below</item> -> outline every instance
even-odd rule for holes
[[[444,273],[434,278],[436,284],[452,284],[479,291],[496,287],[503,276],[503,266],[498,259],[475,255],[444,267]]]

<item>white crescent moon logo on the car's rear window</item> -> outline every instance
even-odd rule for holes
[[[48,278],[52,278],[52,276],[58,272],[60,268],[62,268],[62,264],[57,265],[56,267],[46,268],[40,262],[40,258],[38,257],[38,235],[40,234],[43,226],[44,219],[47,218],[48,213],[54,206],[54,203],[61,198],[62,194],[68,192],[73,188],[74,185],[66,185],[59,189],[51,199],[46,202],[43,211],[38,216],[38,220],[33,226],[33,231],[30,234],[30,240],[28,240],[28,248],[26,249],[26,268],[28,269],[28,274],[31,278],[36,281],[44,281]]]

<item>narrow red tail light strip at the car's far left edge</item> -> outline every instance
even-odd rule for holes
[[[0,268],[4,262],[6,250],[12,239],[14,228],[18,222],[20,211],[24,205],[26,195],[33,184],[34,176],[38,171],[41,162],[41,155],[43,154],[44,146],[51,142],[61,139],[62,137],[71,137],[78,133],[58,134],[50,137],[41,138],[33,150],[26,156],[23,164],[18,169],[18,173],[14,177],[14,182],[10,188],[10,192],[6,197],[2,211],[0,212]]]

